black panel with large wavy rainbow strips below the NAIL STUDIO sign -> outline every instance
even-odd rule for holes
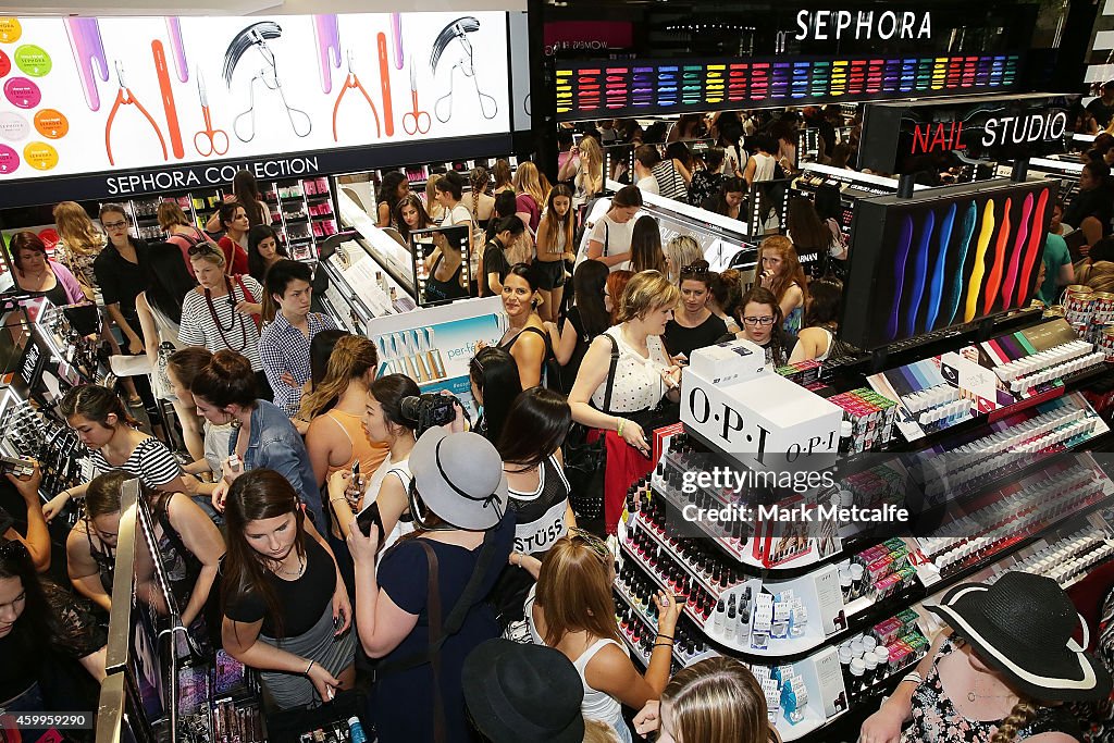
[[[1025,306],[1055,198],[1055,184],[997,182],[862,202],[841,335],[873,349]]]

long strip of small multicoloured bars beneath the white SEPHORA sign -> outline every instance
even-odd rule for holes
[[[557,69],[557,119],[1004,91],[1018,65],[1017,55],[584,61]]]

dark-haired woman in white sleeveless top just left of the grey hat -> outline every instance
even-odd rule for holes
[[[368,438],[374,443],[387,444],[390,453],[368,480],[362,496],[359,483],[350,486],[349,472],[338,470],[329,478],[329,505],[338,514],[338,526],[345,539],[352,531],[352,519],[342,518],[343,511],[349,507],[346,504],[334,501],[356,497],[358,508],[361,511],[372,504],[379,505],[379,516],[387,535],[380,555],[401,537],[414,530],[410,520],[408,490],[410,452],[414,448],[417,421],[408,420],[402,414],[402,400],[419,394],[421,390],[418,389],[418,384],[404,374],[387,374],[372,382],[368,388],[368,408],[363,417],[363,427]]]

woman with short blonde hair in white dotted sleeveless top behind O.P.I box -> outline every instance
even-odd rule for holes
[[[568,394],[573,420],[596,429],[593,438],[612,440],[607,467],[622,476],[607,477],[604,519],[609,531],[618,524],[626,489],[654,467],[644,426],[654,420],[663,399],[680,399],[681,369],[662,343],[680,297],[676,284],[657,271],[635,274],[619,300],[619,324],[588,346]],[[657,419],[658,426],[666,422]],[[628,446],[620,446],[619,439]]]

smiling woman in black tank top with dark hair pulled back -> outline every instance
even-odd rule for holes
[[[502,284],[502,309],[509,327],[499,348],[515,358],[524,390],[558,383],[557,371],[549,371],[557,369],[549,333],[535,311],[539,301],[538,289],[536,273],[525,263],[511,266]]]

